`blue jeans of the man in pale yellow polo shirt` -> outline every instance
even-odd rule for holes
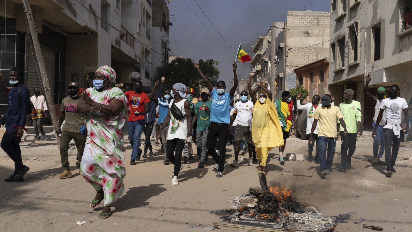
[[[335,157],[336,138],[318,136],[318,144],[316,145],[319,147],[319,163],[321,165],[319,171],[331,170],[333,157]],[[326,149],[328,149],[327,156]]]

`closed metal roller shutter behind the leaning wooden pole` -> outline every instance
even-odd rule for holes
[[[46,64],[46,72],[47,78],[49,79],[49,85],[52,91],[52,95],[54,97],[54,67],[55,67],[55,55],[54,51],[41,46],[44,64]],[[34,45],[30,42],[27,45],[26,49],[26,56],[28,57],[28,89],[30,90],[30,94],[33,95],[33,88],[37,87],[40,89],[40,94],[45,95],[43,81],[41,80],[39,63],[37,62],[36,52],[34,50]]]

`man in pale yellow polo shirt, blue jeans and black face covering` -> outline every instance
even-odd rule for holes
[[[337,123],[339,120],[342,128],[344,129],[344,136],[348,134],[346,130],[345,121],[343,121],[342,112],[338,107],[332,106],[332,97],[325,94],[322,96],[322,106],[316,109],[313,118],[313,124],[311,133],[309,136],[309,143],[313,143],[312,135],[318,125],[318,146],[319,146],[319,163],[321,168],[321,178],[325,178],[326,175],[329,175],[332,171],[333,157],[335,156],[335,146],[336,139],[338,135]],[[326,156],[326,149],[328,149],[328,155]]]

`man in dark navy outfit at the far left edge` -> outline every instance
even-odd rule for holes
[[[1,148],[14,161],[14,173],[5,182],[23,181],[23,175],[30,169],[23,165],[21,159],[20,141],[23,136],[24,125],[26,125],[27,115],[30,112],[30,90],[20,84],[21,70],[19,68],[10,69],[9,83],[12,88],[6,88],[1,82],[0,89],[3,90],[9,99],[9,105],[4,116],[0,119],[1,125],[6,125],[6,132],[1,140]]]

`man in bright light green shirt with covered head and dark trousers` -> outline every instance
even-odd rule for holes
[[[361,103],[352,99],[353,90],[347,89],[343,93],[343,100],[339,104],[339,109],[342,111],[343,120],[346,124],[346,130],[348,130],[348,135],[346,137],[343,134],[344,128],[340,126],[340,137],[342,139],[342,145],[340,147],[340,156],[342,162],[342,173],[346,173],[346,168],[351,169],[351,158],[356,149],[356,136],[362,135],[362,113],[361,113]],[[339,123],[338,123],[339,125]],[[349,149],[349,154],[348,154]]]

